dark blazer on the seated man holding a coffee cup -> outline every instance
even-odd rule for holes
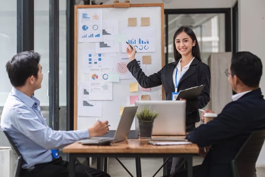
[[[186,138],[211,146],[196,176],[232,176],[231,161],[252,131],[265,129],[265,100],[260,89],[227,104],[217,118],[191,131]],[[194,169],[195,170],[195,169]]]

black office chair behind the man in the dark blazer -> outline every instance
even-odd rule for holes
[[[265,130],[253,131],[232,160],[234,177],[255,177],[256,161],[265,139]]]

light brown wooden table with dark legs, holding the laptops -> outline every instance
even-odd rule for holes
[[[127,140],[111,146],[88,146],[73,143],[63,148],[63,153],[69,153],[69,176],[75,177],[76,157],[132,157],[140,160],[141,157],[185,157],[187,161],[188,177],[192,177],[192,156],[198,154],[196,144],[154,146],[148,140]],[[140,161],[136,162],[136,175],[141,177]]]

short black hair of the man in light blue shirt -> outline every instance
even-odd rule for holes
[[[13,86],[23,86],[30,76],[38,77],[40,55],[33,51],[25,51],[15,55],[7,62],[6,68]]]

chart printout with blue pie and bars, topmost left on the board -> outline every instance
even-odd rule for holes
[[[102,40],[102,9],[79,10],[78,41],[96,42]]]

